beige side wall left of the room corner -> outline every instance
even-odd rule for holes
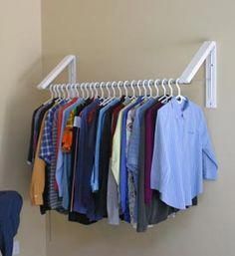
[[[26,164],[32,110],[42,101],[34,88],[40,59],[41,1],[0,0],[0,190],[24,197],[17,236],[24,256],[46,255],[45,218],[29,203]]]

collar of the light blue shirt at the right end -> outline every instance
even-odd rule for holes
[[[171,108],[175,113],[176,118],[187,119],[189,116],[190,101],[185,97],[186,100],[183,100],[182,103],[179,103],[178,100],[173,97],[170,101]]]

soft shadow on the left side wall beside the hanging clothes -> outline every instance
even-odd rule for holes
[[[27,198],[31,178],[31,167],[27,164],[31,117],[46,99],[46,94],[36,89],[40,75],[41,60],[38,60],[10,85],[2,115],[1,190],[17,190]]]

